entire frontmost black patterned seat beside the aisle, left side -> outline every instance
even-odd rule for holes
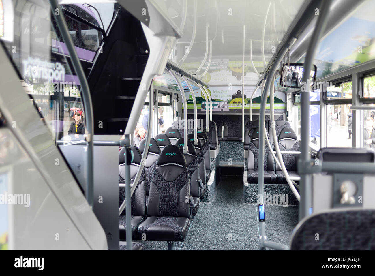
[[[183,242],[189,228],[190,197],[185,157],[179,147],[167,145],[152,175],[147,219],[138,226],[138,237]]]

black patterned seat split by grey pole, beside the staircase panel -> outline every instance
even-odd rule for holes
[[[136,173],[139,168],[139,164],[141,163],[141,152],[138,150],[138,148],[134,145],[130,146],[130,149],[133,151],[133,162],[130,164],[130,183],[133,183],[136,177]],[[122,147],[119,153],[120,162],[124,160],[124,153],[125,153],[125,147]],[[119,177],[119,183],[125,184],[125,164],[121,164],[118,166],[118,177]],[[139,178],[138,184],[133,192],[133,195],[131,196],[131,214],[132,214],[132,239],[137,238],[137,228],[138,225],[144,220],[144,217],[146,216],[146,198],[145,198],[145,171],[141,172],[141,177]],[[121,206],[122,202],[124,202],[126,196],[125,196],[125,188],[119,187],[119,206]],[[119,217],[119,223],[120,223],[120,239],[126,240],[126,216],[125,216],[125,210],[120,214]]]

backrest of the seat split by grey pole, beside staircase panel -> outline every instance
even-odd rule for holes
[[[135,180],[136,174],[138,172],[139,165],[141,164],[141,152],[135,145],[130,146],[130,150],[133,152],[133,160],[130,163],[130,183],[132,184]],[[119,153],[119,157],[121,159],[124,156],[125,147],[122,147]],[[126,184],[125,183],[125,164],[122,163],[118,165],[118,183]],[[132,208],[132,216],[145,216],[146,215],[146,183],[145,183],[145,170],[142,170],[141,177],[139,178],[138,183],[136,184],[135,190],[133,195],[131,196],[131,208]],[[122,202],[124,202],[125,196],[125,188],[119,187],[119,206],[121,206]],[[125,215],[125,209],[121,213]]]

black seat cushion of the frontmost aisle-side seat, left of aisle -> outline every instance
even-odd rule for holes
[[[183,242],[185,240],[189,219],[187,217],[147,217],[138,226],[138,237],[145,234],[146,240],[165,240]]]

